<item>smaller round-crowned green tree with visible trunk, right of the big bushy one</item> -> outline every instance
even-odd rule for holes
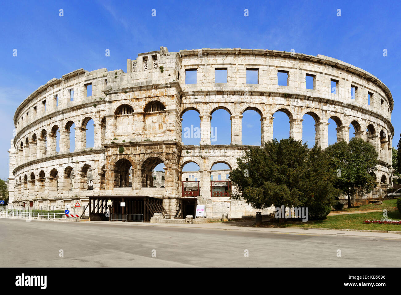
[[[359,188],[371,192],[376,183],[369,173],[376,169],[378,154],[375,147],[361,138],[352,138],[349,143],[340,141],[329,145],[324,151],[330,159],[330,166],[337,171],[334,186],[348,197],[348,207],[351,198]]]

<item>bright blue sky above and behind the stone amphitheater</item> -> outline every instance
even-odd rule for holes
[[[13,115],[39,86],[75,69],[126,71],[126,59],[167,46],[258,48],[327,55],[372,73],[393,94],[393,146],[401,132],[401,6],[365,1],[26,1],[0,9],[0,177],[8,177]],[[59,16],[63,9],[64,16]],[[152,9],[156,16],[152,17]],[[244,10],[249,16],[244,16]],[[336,16],[341,9],[341,16]],[[17,49],[18,56],[13,57]],[[110,56],[105,57],[105,50]],[[388,56],[383,57],[383,49]],[[216,111],[215,143],[229,143],[228,113]],[[304,141],[314,143],[314,121],[304,117]],[[192,121],[193,122],[192,122]],[[184,118],[190,126],[197,116]],[[199,124],[198,122],[196,124]],[[329,143],[335,140],[330,124]],[[196,126],[196,125],[195,125]],[[183,128],[185,125],[183,126]],[[288,117],[276,113],[273,136],[289,135]],[[219,132],[220,131],[220,132]],[[353,131],[350,131],[352,135]],[[259,144],[260,116],[243,117],[243,143]],[[186,143],[184,141],[184,143]]]

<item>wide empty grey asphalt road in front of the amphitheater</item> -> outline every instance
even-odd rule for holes
[[[399,267],[401,240],[3,218],[0,253],[0,267]]]

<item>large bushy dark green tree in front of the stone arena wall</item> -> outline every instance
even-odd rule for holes
[[[249,147],[230,173],[238,191],[233,198],[242,197],[257,209],[284,205],[326,210],[339,194],[328,164],[319,147],[308,150],[292,138],[267,141],[262,148]]]

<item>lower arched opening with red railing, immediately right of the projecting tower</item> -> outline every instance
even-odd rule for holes
[[[197,197],[201,193],[201,168],[195,162],[187,162],[182,166],[181,190],[183,197]]]

